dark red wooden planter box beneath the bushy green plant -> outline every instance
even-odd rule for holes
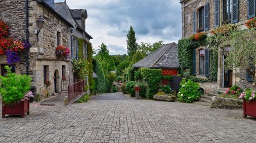
[[[25,114],[30,114],[30,101],[25,99],[24,101],[20,101],[14,106],[7,106],[3,103],[2,105],[2,118],[5,118],[5,115],[21,115],[22,118],[25,117]]]

